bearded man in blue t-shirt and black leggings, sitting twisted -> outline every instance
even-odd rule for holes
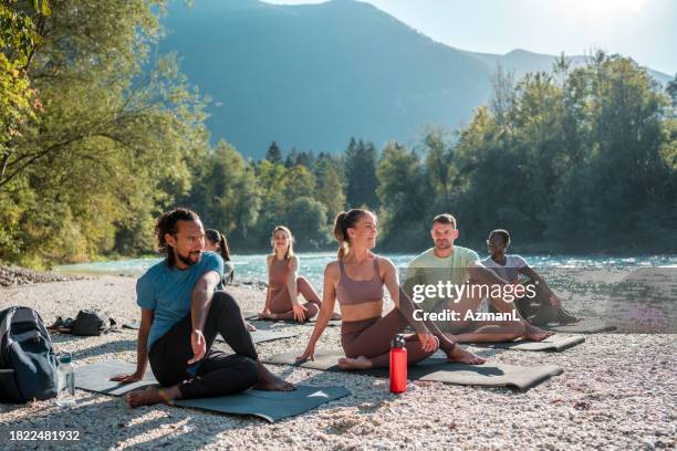
[[[131,407],[240,392],[248,388],[293,390],[259,361],[236,301],[216,291],[223,260],[204,252],[205,230],[191,210],[164,213],[155,226],[165,253],[136,283],[142,321],[136,345],[136,371],[115,376],[124,384],[143,379],[147,363],[163,388],[127,395]],[[217,334],[235,350],[211,348]]]

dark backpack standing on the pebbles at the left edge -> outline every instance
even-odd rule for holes
[[[56,396],[56,357],[38,312],[0,312],[0,402],[28,402]]]

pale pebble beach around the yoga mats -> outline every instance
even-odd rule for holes
[[[101,310],[118,324],[138,319],[133,277],[101,276],[9,284],[0,310],[24,305],[45,324]],[[242,311],[260,310],[261,285],[228,289]],[[262,356],[303,349],[306,325],[256,323],[259,328],[299,335],[258,345]],[[56,352],[75,365],[136,361],[136,331],[98,337],[53,335]],[[352,395],[303,415],[269,424],[253,417],[210,413],[165,405],[129,409],[122,398],[76,390],[77,403],[53,400],[0,403],[4,449],[675,449],[677,447],[676,334],[595,334],[562,353],[468,348],[489,360],[513,365],[559,365],[564,373],[527,392],[409,381],[392,395],[387,380],[291,366],[270,368],[295,384],[343,386]],[[217,347],[226,347],[216,344]],[[317,349],[340,347],[337,327],[327,327]],[[149,370],[149,369],[148,369]],[[11,441],[10,431],[79,431],[77,441]]]

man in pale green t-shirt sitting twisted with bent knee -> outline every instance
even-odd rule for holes
[[[430,235],[435,247],[416,256],[405,276],[404,290],[418,304],[419,315],[460,343],[542,340],[551,335],[527,323],[513,308],[507,295],[513,292],[513,284],[486,268],[477,252],[454,244],[458,229],[451,214],[435,217]],[[498,313],[479,313],[483,298]]]

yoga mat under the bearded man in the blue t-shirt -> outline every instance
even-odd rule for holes
[[[136,365],[107,360],[75,368],[75,387],[111,396],[123,396],[140,387],[157,385],[150,371],[143,381],[121,385],[110,380],[121,373],[134,373]],[[351,392],[343,387],[298,386],[294,391],[247,390],[216,398],[179,399],[180,407],[192,407],[221,413],[251,415],[274,422],[303,413]]]

